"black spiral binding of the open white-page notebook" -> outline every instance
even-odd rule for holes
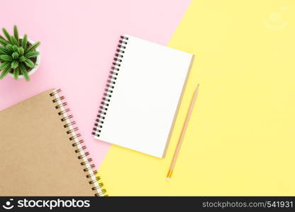
[[[119,44],[117,45],[115,57],[113,58],[114,62],[111,66],[111,71],[108,75],[108,80],[106,81],[106,88],[104,89],[104,97],[101,99],[99,106],[99,113],[97,114],[97,119],[94,123],[94,128],[92,134],[99,137],[101,133],[101,128],[104,124],[104,119],[106,118],[106,111],[108,110],[109,102],[111,102],[111,95],[113,89],[115,88],[116,80],[118,77],[118,71],[120,71],[121,62],[123,61],[123,54],[125,53],[126,45],[128,44],[127,40],[129,39],[126,36],[120,36]]]

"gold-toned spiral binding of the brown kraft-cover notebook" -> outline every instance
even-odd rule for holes
[[[62,100],[65,100],[65,97],[60,97],[58,95],[58,93],[60,92],[61,89],[54,90],[52,93],[50,93],[50,96],[53,98],[52,102],[55,103],[55,109],[59,110],[57,114],[61,116],[60,121],[64,123],[63,126],[65,127],[66,134],[69,135],[69,141],[72,142],[72,147],[76,148],[74,149],[74,152],[78,154],[77,158],[79,160],[82,160],[80,164],[84,166],[84,172],[87,172],[86,177],[89,184],[93,185],[91,189],[95,192],[94,195],[107,196],[106,189],[104,189],[104,184],[99,182],[101,180],[101,177],[96,176],[97,171],[93,170],[95,165],[91,164],[92,158],[88,158],[89,152],[85,152],[87,147],[82,146],[82,143],[84,143],[84,141],[82,139],[79,139],[81,134],[76,133],[76,131],[78,130],[78,127],[74,126],[76,122],[70,120],[73,117],[72,114],[67,114],[67,112],[69,112],[69,109],[65,109],[67,102],[62,102]]]

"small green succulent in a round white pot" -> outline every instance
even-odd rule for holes
[[[0,35],[0,79],[6,75],[25,78],[37,71],[40,64],[38,46],[40,42],[33,42],[28,35],[19,36],[16,25],[13,27],[13,35],[9,35],[5,28],[2,29],[5,37]]]

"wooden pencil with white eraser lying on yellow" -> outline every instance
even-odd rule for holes
[[[177,143],[177,147],[176,147],[176,150],[175,150],[173,158],[172,158],[172,162],[171,162],[171,165],[170,165],[170,168],[169,168],[169,172],[167,173],[167,177],[166,177],[167,181],[169,181],[171,179],[171,176],[172,176],[172,173],[173,173],[173,170],[174,170],[174,166],[175,166],[175,164],[177,162],[177,156],[179,155],[179,151],[180,151],[180,148],[182,146],[182,141],[184,140],[184,134],[187,131],[187,125],[189,124],[189,118],[191,117],[191,113],[192,113],[192,111],[194,109],[194,103],[196,102],[196,98],[198,96],[198,93],[199,93],[199,84],[198,84],[198,86],[196,86],[196,90],[194,90],[194,95],[191,98],[191,104],[189,105],[189,110],[187,112],[187,117],[185,118],[184,126],[182,126],[182,134],[179,137],[179,141]]]

